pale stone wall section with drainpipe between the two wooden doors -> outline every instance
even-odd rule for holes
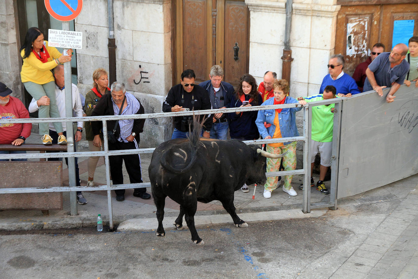
[[[282,75],[285,38],[285,0],[245,0],[250,8],[250,74],[263,81],[267,70]],[[334,54],[336,0],[294,0],[290,45],[291,96],[319,93],[328,73],[326,64]],[[268,21],[266,20],[268,18]]]

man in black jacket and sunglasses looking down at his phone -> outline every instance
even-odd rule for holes
[[[212,108],[209,94],[202,87],[194,83],[196,75],[191,69],[181,73],[181,83],[171,87],[168,91],[166,100],[163,102],[163,112],[177,112],[185,110],[210,110]],[[201,115],[207,117],[204,123],[203,136],[209,138],[210,129],[212,128],[211,115]],[[189,134],[189,123],[193,123],[191,115],[175,116],[173,138],[187,138]]]

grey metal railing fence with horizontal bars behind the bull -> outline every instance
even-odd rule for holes
[[[309,121],[312,116],[311,110],[312,106],[317,105],[328,105],[335,103],[335,118],[334,118],[334,141],[333,141],[333,150],[332,154],[338,154],[338,142],[339,140],[339,127],[341,122],[341,102],[345,98],[334,98],[329,100],[310,102],[307,105],[303,106],[303,136],[291,137],[291,138],[272,138],[272,139],[260,139],[254,141],[244,141],[247,145],[251,144],[263,144],[263,143],[277,143],[277,142],[286,142],[286,141],[303,141],[303,169],[295,169],[291,171],[275,171],[266,173],[267,177],[274,176],[286,176],[286,175],[295,175],[295,174],[304,174],[303,184],[310,184],[310,174],[311,174],[311,163],[310,163],[310,131],[311,131],[311,122]],[[102,121],[103,131],[107,131],[107,120],[119,120],[119,119],[148,119],[148,118],[164,118],[164,117],[173,117],[173,116],[184,116],[184,115],[201,115],[208,113],[232,113],[232,112],[244,112],[251,110],[268,110],[268,109],[278,109],[278,108],[295,108],[301,107],[300,104],[284,104],[284,105],[266,105],[266,106],[252,106],[252,107],[243,107],[243,108],[225,108],[225,109],[212,109],[212,110],[196,110],[194,112],[184,111],[176,113],[147,113],[141,115],[104,115],[100,117],[95,116],[86,116],[82,118],[70,117],[70,118],[19,118],[19,119],[0,119],[1,123],[41,123],[41,122],[67,122],[68,125],[71,125],[76,121]],[[145,154],[152,153],[155,148],[140,148],[132,150],[115,150],[109,151],[109,146],[107,142],[107,133],[104,134],[104,151],[83,151],[83,152],[64,152],[64,153],[32,153],[32,154],[0,154],[0,159],[40,159],[40,158],[61,158],[61,157],[89,157],[89,156],[104,156],[105,158],[105,168],[106,168],[106,185],[87,187],[87,186],[75,186],[75,178],[69,179],[69,187],[50,187],[50,188],[0,188],[0,194],[5,193],[34,193],[34,192],[72,192],[72,191],[94,191],[94,190],[104,190],[107,191],[107,203],[109,208],[109,224],[110,228],[113,229],[113,210],[112,210],[112,199],[110,191],[115,189],[130,189],[138,187],[150,187],[149,182],[143,183],[130,183],[130,184],[110,184],[110,167],[109,167],[109,156],[112,155],[125,155],[125,154]],[[68,142],[70,145],[69,149],[74,146],[74,143]],[[73,148],[74,150],[74,148]],[[330,207],[331,209],[336,209],[336,172],[338,171],[338,158],[337,155],[332,161],[332,175],[331,175],[331,193],[329,202],[320,202],[311,204],[311,192],[310,187],[304,187],[303,189],[303,208],[304,213],[308,213],[313,208],[322,208]],[[74,165],[69,164],[69,177],[75,177]],[[75,192],[74,192],[75,197]],[[77,204],[76,200],[70,198],[71,206],[71,215],[77,214]]]

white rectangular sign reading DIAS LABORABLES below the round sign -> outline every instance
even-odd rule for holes
[[[48,44],[64,49],[82,49],[83,32],[48,29]]]

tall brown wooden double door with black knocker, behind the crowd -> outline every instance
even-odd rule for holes
[[[185,69],[194,70],[197,83],[205,81],[210,68],[218,64],[224,69],[224,81],[236,85],[249,68],[249,14],[243,0],[173,3],[173,84],[180,82]]]

